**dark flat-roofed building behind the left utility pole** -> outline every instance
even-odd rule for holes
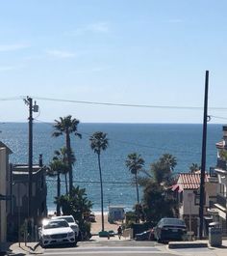
[[[9,234],[10,238],[13,239],[13,235],[18,233],[18,227],[25,221],[30,221],[32,227],[32,230],[30,231],[31,237],[35,238],[36,226],[38,226],[39,221],[47,215],[45,167],[40,163],[33,165],[30,218],[28,215],[28,165],[13,165],[12,180],[12,209],[8,218],[8,222],[11,224],[11,234]]]

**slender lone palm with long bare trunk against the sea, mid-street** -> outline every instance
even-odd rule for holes
[[[104,215],[103,215],[103,181],[102,181],[102,171],[101,171],[101,161],[100,155],[101,151],[105,151],[108,148],[108,138],[107,133],[102,131],[94,132],[90,138],[90,148],[98,156],[98,168],[101,186],[101,213],[102,213],[102,231],[104,231]]]

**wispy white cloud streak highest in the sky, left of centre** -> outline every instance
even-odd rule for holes
[[[85,34],[87,32],[91,33],[108,33],[109,32],[109,26],[106,22],[97,22],[97,23],[92,23],[88,24],[86,26],[77,28],[74,31],[67,32],[66,35],[69,36],[79,36],[82,34]]]

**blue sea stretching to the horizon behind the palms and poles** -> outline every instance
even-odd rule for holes
[[[200,164],[202,125],[183,124],[80,124],[83,138],[71,138],[77,161],[73,170],[75,185],[86,187],[93,211],[100,212],[100,184],[97,156],[89,146],[89,136],[95,131],[108,133],[109,148],[102,153],[104,181],[104,207],[122,205],[126,210],[135,204],[136,187],[131,185],[132,175],[125,166],[128,154],[137,152],[145,159],[148,170],[153,161],[169,153],[177,158],[176,173],[188,172],[192,162]],[[28,162],[28,124],[6,123],[0,125],[0,140],[12,149],[13,163]],[[34,123],[34,163],[38,154],[48,164],[54,151],[64,145],[64,137],[54,138],[52,124]],[[216,162],[215,143],[222,138],[222,125],[209,125],[207,135],[207,169]],[[48,210],[53,211],[56,181],[48,178]],[[62,192],[64,193],[64,184]],[[141,191],[140,191],[141,195]]]

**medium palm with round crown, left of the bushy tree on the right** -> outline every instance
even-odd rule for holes
[[[132,174],[135,175],[135,182],[137,186],[137,198],[139,204],[139,186],[138,186],[138,173],[142,170],[144,166],[143,158],[137,153],[132,153],[128,155],[128,158],[125,160],[126,166],[129,168]]]

